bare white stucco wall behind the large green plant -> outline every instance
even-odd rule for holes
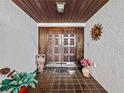
[[[0,0],[0,68],[33,71],[37,31],[36,23],[11,0]]]

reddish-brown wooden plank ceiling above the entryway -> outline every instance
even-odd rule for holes
[[[108,0],[12,0],[37,23],[86,22]],[[56,1],[65,1],[64,13],[56,11]]]

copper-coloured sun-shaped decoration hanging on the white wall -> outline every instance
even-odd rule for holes
[[[91,31],[91,36],[93,40],[99,40],[102,34],[102,24],[95,24]]]

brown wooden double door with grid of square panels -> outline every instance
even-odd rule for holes
[[[47,63],[74,64],[76,60],[76,29],[56,28],[47,32]]]

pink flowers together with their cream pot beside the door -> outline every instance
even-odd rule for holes
[[[91,66],[91,62],[89,61],[89,59],[81,59],[81,65],[83,66],[82,68],[82,73],[84,77],[90,77],[90,66]]]

